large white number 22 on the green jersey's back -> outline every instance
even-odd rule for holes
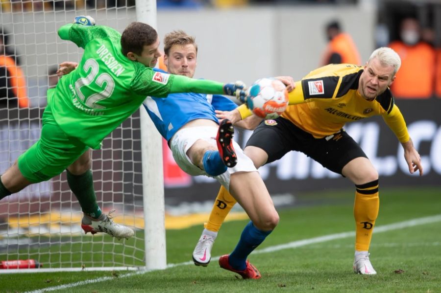
[[[115,89],[115,81],[107,73],[99,74],[97,80],[95,80],[95,77],[97,77],[98,74],[99,66],[98,62],[92,58],[88,59],[86,63],[84,63],[83,69],[86,72],[90,70],[90,72],[86,77],[81,77],[75,82],[75,91],[78,98],[90,108],[105,109],[105,107],[97,105],[96,103],[112,95],[112,92]],[[80,90],[81,87],[90,85],[94,80],[99,87],[102,87],[104,83],[106,83],[106,87],[99,93],[94,93],[89,97],[85,97]]]

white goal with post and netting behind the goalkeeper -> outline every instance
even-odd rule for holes
[[[20,61],[30,106],[0,103],[0,174],[39,138],[46,90],[54,80],[48,72],[81,57],[81,48],[58,37],[61,25],[90,15],[97,25],[120,32],[135,20],[156,28],[155,0],[136,0],[136,6],[127,0],[131,6],[121,7],[90,7],[85,0],[55,1],[63,7],[42,2],[41,7],[32,0],[17,2],[21,7],[0,3],[1,26]],[[66,6],[69,2],[75,6]],[[0,201],[0,273],[166,268],[162,138],[146,111],[106,137],[92,160],[98,204],[104,212],[115,208],[115,222],[134,228],[135,236],[118,241],[104,233],[84,235],[81,208],[62,174]],[[17,260],[43,266],[1,269]]]

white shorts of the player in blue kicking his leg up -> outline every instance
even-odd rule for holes
[[[194,165],[187,156],[187,151],[192,147],[196,140],[202,139],[217,148],[216,135],[218,128],[212,126],[190,127],[184,128],[176,132],[170,139],[170,149],[173,158],[178,166],[187,174],[192,176],[205,175],[211,177],[204,170]],[[253,172],[257,171],[253,161],[245,156],[236,141],[233,141],[234,150],[236,151],[237,164],[233,168],[228,168],[223,174],[215,178],[229,191],[230,176],[236,172]]]

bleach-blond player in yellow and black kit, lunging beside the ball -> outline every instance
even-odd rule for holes
[[[257,168],[290,151],[300,151],[355,184],[353,268],[361,274],[376,274],[368,249],[379,210],[378,172],[343,126],[381,115],[403,146],[409,172],[423,174],[420,156],[389,90],[400,65],[395,51],[381,47],[373,51],[364,67],[339,64],[311,71],[294,83],[289,106],[281,117],[262,121],[245,147],[245,154]],[[249,115],[245,105],[218,114],[233,123]],[[235,203],[222,187],[193,252],[196,265],[208,265],[217,232]],[[203,255],[205,261],[201,261]]]

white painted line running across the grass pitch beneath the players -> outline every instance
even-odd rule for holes
[[[382,233],[382,232],[386,232],[386,231],[390,231],[390,230],[403,229],[403,228],[413,227],[413,226],[417,226],[417,225],[425,225],[425,224],[431,224],[431,223],[437,223],[437,222],[441,222],[441,215],[435,215],[435,216],[424,217],[424,218],[417,218],[417,219],[393,223],[393,224],[389,224],[389,225],[382,225],[379,227],[375,227],[374,233],[377,234],[377,233]],[[309,239],[293,241],[293,242],[286,243],[286,244],[271,246],[268,248],[258,249],[258,250],[253,251],[252,254],[268,253],[268,252],[274,252],[274,251],[278,251],[278,250],[282,250],[282,249],[289,249],[289,248],[298,248],[298,247],[307,246],[307,245],[314,244],[314,243],[322,243],[322,242],[327,242],[327,241],[331,241],[331,240],[343,239],[343,238],[354,237],[354,236],[355,236],[355,232],[353,232],[353,231],[336,233],[336,234],[329,234],[329,235],[324,235],[324,236],[319,236],[319,237],[314,237],[314,238],[309,238]],[[219,256],[212,258],[212,260],[219,260]],[[183,262],[183,263],[178,263],[178,264],[169,264],[169,265],[167,265],[167,268],[173,268],[173,267],[185,266],[185,265],[193,265],[193,262],[189,261],[189,262]],[[149,271],[140,270],[140,271],[136,271],[136,272],[130,272],[127,274],[121,274],[119,276],[119,278],[131,277],[134,275],[145,274],[147,272],[149,272]],[[87,285],[87,284],[94,284],[94,283],[109,281],[112,279],[114,279],[114,277],[100,277],[97,279],[79,281],[79,282],[59,285],[59,286],[55,286],[55,287],[48,287],[48,288],[41,289],[41,290],[28,291],[26,293],[44,293],[44,292],[48,292],[48,291],[63,290],[63,289],[69,289],[69,288]]]

